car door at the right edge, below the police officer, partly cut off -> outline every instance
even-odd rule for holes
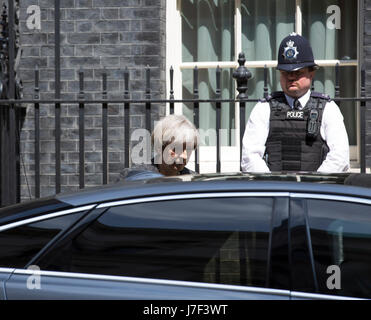
[[[293,299],[371,298],[371,200],[291,194],[290,221]]]

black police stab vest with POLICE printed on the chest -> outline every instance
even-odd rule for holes
[[[302,110],[293,110],[282,91],[267,97],[271,113],[265,160],[271,171],[317,171],[329,151],[320,134],[327,95],[312,92]]]

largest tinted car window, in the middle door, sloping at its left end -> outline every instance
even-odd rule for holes
[[[42,269],[265,286],[273,198],[112,207]]]

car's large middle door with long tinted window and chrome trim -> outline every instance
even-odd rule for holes
[[[287,194],[104,203],[6,282],[9,299],[289,299]],[[38,289],[25,290],[39,276]]]

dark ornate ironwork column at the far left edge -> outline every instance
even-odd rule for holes
[[[19,1],[2,7],[0,19],[0,204],[19,200],[19,133],[21,111],[16,99],[22,97],[22,84],[17,74],[20,60]],[[11,103],[4,102],[9,100]]]

